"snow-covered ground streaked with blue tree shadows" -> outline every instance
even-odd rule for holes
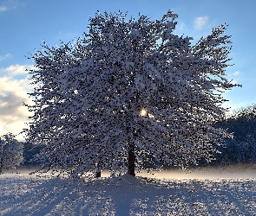
[[[95,181],[5,173],[0,215],[256,215],[256,169],[192,171]]]

